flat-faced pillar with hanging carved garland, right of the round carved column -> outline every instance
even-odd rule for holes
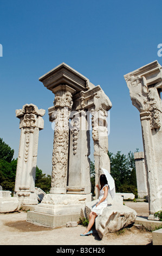
[[[67,193],[90,194],[90,134],[87,115],[84,109],[74,113],[70,123]]]

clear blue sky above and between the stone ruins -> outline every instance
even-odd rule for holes
[[[161,0],[1,0],[0,137],[15,150],[15,158],[20,142],[15,109],[34,103],[46,109],[37,166],[51,174],[48,107],[54,94],[38,78],[62,62],[100,84],[112,101],[109,151],[143,150],[139,112],[124,75],[156,59],[162,64],[157,55],[161,9]]]

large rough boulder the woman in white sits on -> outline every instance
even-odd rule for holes
[[[100,238],[134,223],[137,212],[125,205],[109,205],[96,217],[95,228]]]

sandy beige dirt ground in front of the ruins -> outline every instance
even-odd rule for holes
[[[148,203],[125,202],[137,211],[138,216],[148,216]],[[27,212],[20,211],[0,215],[0,245],[152,245],[152,233],[130,227],[102,240],[93,229],[93,235],[80,236],[85,227],[44,228],[26,222]]]

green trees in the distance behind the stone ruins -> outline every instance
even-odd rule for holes
[[[137,149],[138,151],[138,149]],[[3,190],[9,190],[14,193],[17,159],[13,159],[14,149],[0,138],[0,185]],[[129,192],[137,197],[137,180],[135,174],[134,155],[130,151],[128,155],[116,154],[108,152],[111,162],[111,175],[115,180],[116,192]],[[95,167],[90,162],[90,180],[92,184],[92,194],[95,196]],[[42,170],[36,167],[35,186],[40,187],[44,192],[48,193],[51,186],[51,176],[43,174]]]

